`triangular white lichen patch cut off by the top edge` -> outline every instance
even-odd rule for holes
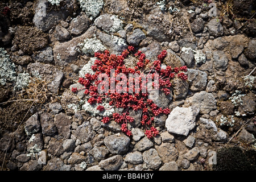
[[[82,11],[85,11],[90,20],[96,18],[104,6],[103,0],[79,0],[79,3]]]

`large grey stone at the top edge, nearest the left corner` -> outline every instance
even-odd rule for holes
[[[35,15],[33,18],[33,23],[37,28],[40,28],[43,31],[49,30],[50,28],[58,24],[61,20],[66,19],[68,16],[67,9],[61,9],[59,11],[49,11],[48,5],[49,3],[46,0],[40,0],[35,5]]]

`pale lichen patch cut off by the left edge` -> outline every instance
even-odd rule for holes
[[[0,48],[0,84],[16,81],[15,65],[4,48]]]

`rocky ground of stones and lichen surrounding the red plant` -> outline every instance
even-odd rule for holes
[[[1,170],[255,170],[255,7],[1,1]],[[150,60],[166,49],[164,64],[188,67],[187,81],[173,80],[172,99],[159,98],[171,113],[155,117],[160,135],[152,139],[142,126],[127,137],[118,123],[102,123],[82,107],[83,92],[71,92],[94,51],[128,46]]]

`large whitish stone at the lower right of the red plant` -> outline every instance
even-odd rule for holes
[[[196,126],[198,107],[175,107],[166,119],[168,132],[187,136],[189,131]]]

